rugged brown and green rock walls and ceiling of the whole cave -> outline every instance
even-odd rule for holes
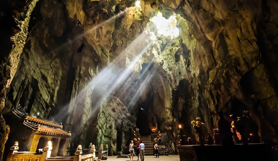
[[[2,147],[19,104],[54,116],[75,145],[108,144],[110,154],[134,123],[148,133],[157,122],[173,146],[178,132],[194,137],[196,117],[212,133],[220,110],[249,110],[249,130],[278,143],[277,1],[1,3]]]

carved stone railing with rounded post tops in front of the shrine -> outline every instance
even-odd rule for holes
[[[14,146],[10,148],[6,161],[94,161],[96,157],[94,145],[90,149],[91,154],[87,155],[82,155],[82,147],[79,145],[72,157],[50,157],[52,150],[51,142],[47,143],[41,154],[26,151],[18,152],[18,149],[18,142],[15,142]]]

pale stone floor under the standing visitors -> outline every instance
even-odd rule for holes
[[[117,156],[108,156],[107,160],[108,161],[129,161],[129,158],[117,158]],[[137,156],[134,156],[133,160],[137,160]],[[168,156],[161,155],[159,156],[159,158],[156,158],[155,156],[145,156],[144,161],[179,161],[179,160],[180,160],[179,155],[168,155]]]

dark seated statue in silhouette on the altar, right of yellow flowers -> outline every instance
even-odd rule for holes
[[[217,112],[219,120],[217,121],[218,128],[213,129],[214,144],[218,145],[232,145],[233,133],[231,132],[231,126],[228,120],[223,116],[223,111]]]

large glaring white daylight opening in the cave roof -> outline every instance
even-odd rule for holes
[[[171,38],[179,35],[179,29],[176,27],[177,20],[175,16],[170,16],[169,19],[162,17],[162,13],[158,14],[151,20],[158,30],[158,34],[171,36]]]

